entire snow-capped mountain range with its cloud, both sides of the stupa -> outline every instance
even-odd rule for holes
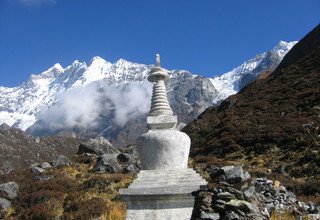
[[[275,68],[295,43],[281,41],[272,50],[211,79],[184,70],[170,71],[168,96],[174,112],[182,122],[190,122],[209,105]],[[145,79],[151,68],[123,59],[112,64],[101,57],[88,64],[76,60],[65,68],[55,64],[18,87],[0,87],[0,124],[29,128],[36,135],[76,130],[89,136],[112,133],[116,139],[115,135],[130,132],[123,129],[128,121],[149,109],[152,85]]]

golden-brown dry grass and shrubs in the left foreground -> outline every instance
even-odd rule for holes
[[[76,156],[69,167],[48,169],[44,174],[20,172],[6,177],[20,186],[20,198],[6,219],[125,219],[126,206],[118,189],[127,187],[133,174],[94,173],[95,158]],[[53,176],[48,181],[34,177]]]

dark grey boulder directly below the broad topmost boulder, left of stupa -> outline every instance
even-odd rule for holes
[[[117,156],[117,154],[103,154],[98,158],[94,171],[107,173],[120,172],[121,167],[118,163]]]

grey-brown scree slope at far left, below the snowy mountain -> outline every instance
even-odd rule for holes
[[[74,155],[82,140],[64,137],[35,138],[18,128],[0,125],[0,174],[25,169],[35,162]]]

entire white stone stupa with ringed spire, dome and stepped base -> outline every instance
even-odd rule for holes
[[[167,98],[167,70],[160,66],[160,55],[148,80],[154,84],[148,132],[137,139],[142,170],[120,195],[127,202],[128,220],[190,219],[194,205],[193,191],[207,182],[188,168],[190,138],[176,129]]]

